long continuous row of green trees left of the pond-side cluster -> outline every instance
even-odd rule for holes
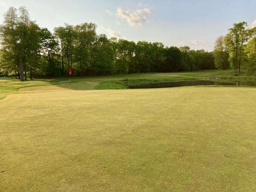
[[[214,69],[213,52],[127,41],[96,34],[94,23],[55,27],[31,20],[26,7],[10,7],[0,27],[0,73],[23,81],[36,76],[110,75]]]

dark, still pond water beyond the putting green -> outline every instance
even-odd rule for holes
[[[231,81],[231,80],[192,80],[192,81],[161,81],[150,83],[129,83],[128,89],[153,89],[165,87],[182,87],[182,86],[197,86],[197,85],[226,85],[226,86],[253,86],[256,87],[256,81]]]

